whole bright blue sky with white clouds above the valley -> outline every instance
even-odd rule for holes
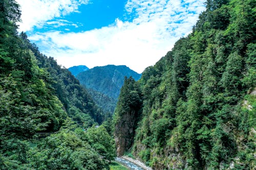
[[[141,73],[191,33],[205,0],[16,0],[42,54],[69,68],[126,65]]]

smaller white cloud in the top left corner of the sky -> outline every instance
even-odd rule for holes
[[[89,0],[16,0],[22,10],[22,22],[18,23],[20,31],[30,31],[33,27],[42,27],[54,17],[78,12],[81,4]]]

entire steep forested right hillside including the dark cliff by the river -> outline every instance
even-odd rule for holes
[[[138,83],[126,80],[118,155],[132,152],[154,169],[256,168],[255,5],[206,1],[191,34]]]

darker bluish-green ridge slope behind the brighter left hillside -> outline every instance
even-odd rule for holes
[[[68,115],[80,126],[92,126],[94,122],[99,124],[103,120],[100,110],[90,94],[83,88],[79,81],[66,68],[61,68],[52,57],[40,54],[35,44],[30,44],[26,34],[20,35],[26,42],[24,45],[35,56],[40,69],[44,69],[51,79],[54,94],[61,101]]]

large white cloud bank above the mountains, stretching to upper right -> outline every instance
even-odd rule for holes
[[[126,15],[136,16],[130,22],[117,18],[101,29],[37,33],[29,38],[40,42],[42,53],[65,67],[115,64],[142,72],[170,51],[180,37],[191,32],[205,9],[203,3],[204,0],[128,0]]]

